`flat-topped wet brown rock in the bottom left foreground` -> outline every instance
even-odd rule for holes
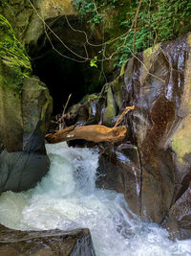
[[[0,225],[0,255],[96,256],[89,229],[18,231]]]

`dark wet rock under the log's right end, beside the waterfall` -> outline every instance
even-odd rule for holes
[[[96,186],[124,194],[130,210],[140,215],[140,175],[138,149],[123,144],[100,154]]]

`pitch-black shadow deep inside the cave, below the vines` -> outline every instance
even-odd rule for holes
[[[103,84],[99,80],[100,71],[91,67],[89,62],[79,63],[63,58],[50,45],[42,48],[38,56],[32,60],[33,75],[48,86],[53,97],[53,115],[62,112],[71,93],[69,106],[79,102],[86,94],[100,91]]]

